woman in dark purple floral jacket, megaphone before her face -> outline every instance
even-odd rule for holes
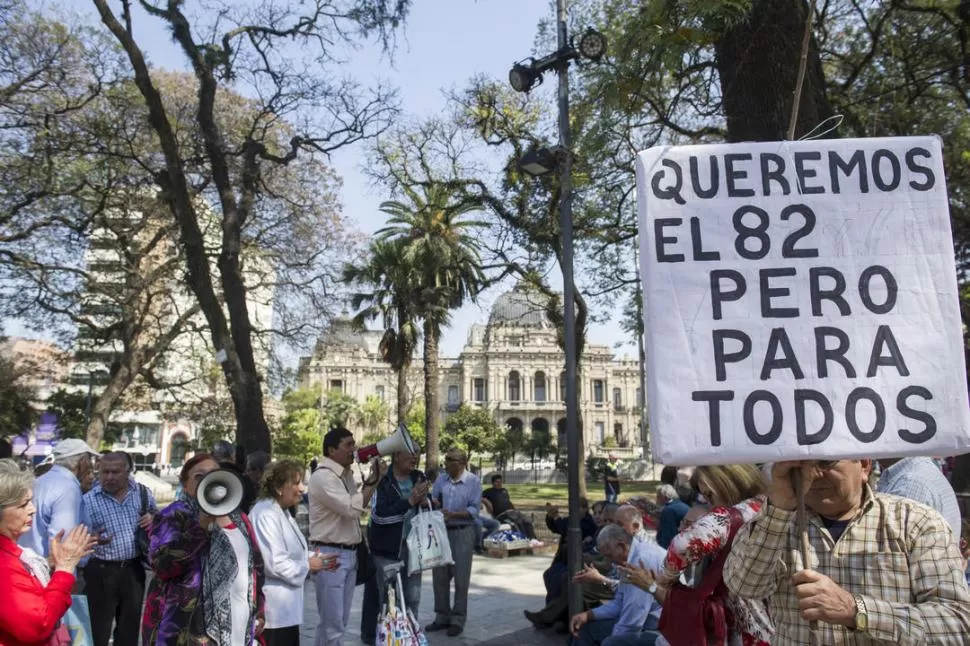
[[[263,560],[252,525],[238,509],[210,516],[196,497],[218,469],[205,453],[186,462],[179,497],[152,522],[143,644],[263,643]]]

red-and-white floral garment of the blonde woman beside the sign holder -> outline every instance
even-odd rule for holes
[[[761,496],[745,500],[735,509],[741,512],[744,522],[749,522],[761,510],[765,499]],[[670,585],[680,573],[692,565],[716,556],[727,545],[731,532],[731,515],[726,507],[715,507],[709,514],[698,519],[690,529],[677,534],[670,542],[663,570],[657,583]],[[774,632],[768,615],[767,602],[756,602],[728,595],[727,606],[734,616],[728,643],[743,646],[768,646]]]

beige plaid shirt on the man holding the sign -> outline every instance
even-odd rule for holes
[[[819,622],[819,643],[966,643],[970,591],[953,532],[937,512],[866,487],[862,509],[838,542],[811,512],[808,536],[811,568],[860,595],[869,620],[866,634]],[[774,646],[812,643],[789,583],[800,563],[795,513],[767,504],[738,532],[724,566],[734,594],[770,599]]]

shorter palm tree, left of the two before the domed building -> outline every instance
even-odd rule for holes
[[[380,320],[384,326],[378,352],[397,373],[398,422],[407,418],[407,377],[418,345],[415,274],[404,251],[398,242],[375,240],[365,264],[347,265],[343,271],[343,281],[359,290],[351,296],[351,306],[359,310],[354,325],[364,328],[367,321]]]

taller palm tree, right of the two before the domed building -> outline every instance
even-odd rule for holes
[[[438,343],[451,310],[474,300],[485,278],[477,235],[484,223],[464,219],[477,204],[458,201],[438,184],[407,189],[408,202],[384,202],[388,226],[380,239],[401,244],[416,280],[414,305],[424,335],[424,403],[427,466],[438,465],[441,411],[438,407]]]

